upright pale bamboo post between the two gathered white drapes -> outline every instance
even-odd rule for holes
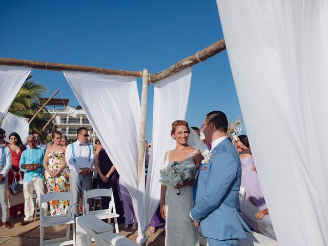
[[[148,96],[149,73],[147,69],[142,70],[142,92],[141,92],[141,110],[139,125],[139,152],[138,152],[138,187],[142,171],[144,170],[145,151],[146,151],[146,114],[147,114],[147,96]]]

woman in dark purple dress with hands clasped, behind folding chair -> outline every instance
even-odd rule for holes
[[[101,148],[98,154],[95,155],[94,165],[97,170],[99,189],[112,188],[116,213],[122,216],[117,192],[117,179],[119,175],[104,148]],[[110,197],[101,197],[101,207],[103,209],[108,209],[110,200]],[[119,218],[117,219],[119,220]]]

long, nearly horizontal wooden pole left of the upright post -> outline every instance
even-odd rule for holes
[[[141,72],[137,72],[137,71],[115,70],[115,69],[106,69],[106,68],[98,68],[98,67],[90,67],[90,66],[48,63],[44,61],[20,60],[20,59],[11,59],[11,58],[0,58],[0,65],[24,66],[24,67],[31,67],[34,69],[46,69],[46,70],[53,70],[58,72],[61,72],[62,70],[68,70],[68,71],[73,70],[73,71],[80,71],[80,72],[92,72],[92,73],[103,73],[103,74],[111,74],[111,75],[142,77]]]

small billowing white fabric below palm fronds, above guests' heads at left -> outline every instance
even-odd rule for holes
[[[4,120],[2,121],[1,128],[6,131],[6,141],[9,142],[9,135],[12,132],[16,132],[23,144],[26,144],[26,137],[29,135],[29,119],[16,116],[12,113],[7,112]]]

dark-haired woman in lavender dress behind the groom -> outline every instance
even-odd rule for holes
[[[240,186],[245,188],[246,199],[252,202],[260,211],[263,211],[267,209],[267,204],[265,204],[260,181],[257,176],[248,137],[246,135],[239,135],[235,143],[236,147],[241,149],[239,152],[242,171]],[[255,224],[249,220],[247,222],[251,229],[256,229]]]

